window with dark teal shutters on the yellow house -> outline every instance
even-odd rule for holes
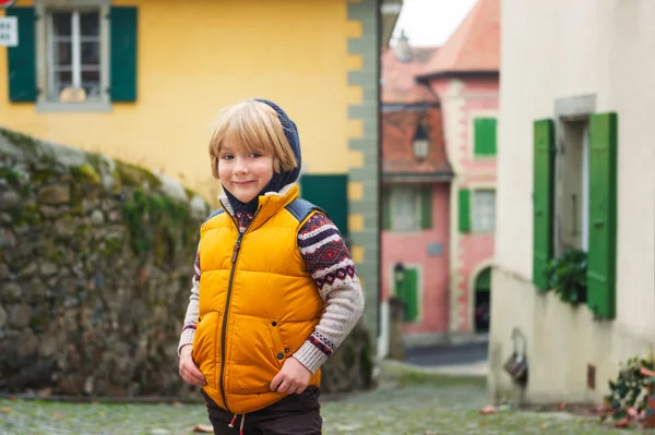
[[[20,39],[7,50],[10,101],[80,111],[136,100],[136,8],[35,0],[5,13],[17,19]]]

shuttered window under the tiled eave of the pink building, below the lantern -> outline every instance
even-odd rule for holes
[[[382,191],[383,229],[420,231],[432,228],[432,186],[396,185]]]

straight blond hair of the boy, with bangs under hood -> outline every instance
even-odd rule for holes
[[[273,156],[275,172],[298,166],[277,112],[265,102],[248,100],[221,111],[210,141],[212,174],[218,179],[221,149],[226,142],[234,150],[258,150]]]

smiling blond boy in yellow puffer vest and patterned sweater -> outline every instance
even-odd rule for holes
[[[277,105],[224,110],[210,156],[225,195],[201,228],[180,375],[203,386],[215,435],[239,415],[241,435],[320,434],[319,367],[364,311],[355,264],[298,197],[298,130]]]

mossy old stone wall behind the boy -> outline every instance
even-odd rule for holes
[[[198,195],[165,176],[0,129],[0,392],[194,396],[178,375]],[[371,385],[360,324],[325,392]]]

